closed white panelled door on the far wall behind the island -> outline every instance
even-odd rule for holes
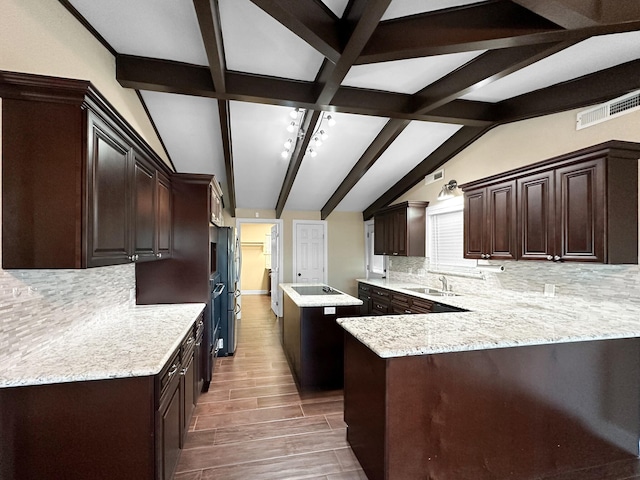
[[[326,283],[325,225],[296,223],[294,283]]]

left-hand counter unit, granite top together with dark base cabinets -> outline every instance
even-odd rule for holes
[[[169,480],[204,304],[105,308],[0,371],[0,478]]]

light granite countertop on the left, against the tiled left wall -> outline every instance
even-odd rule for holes
[[[0,388],[156,375],[204,307],[192,303],[105,309],[3,368]]]

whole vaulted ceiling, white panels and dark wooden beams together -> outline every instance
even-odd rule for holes
[[[637,1],[59,1],[233,216],[368,218],[497,125],[640,88]]]

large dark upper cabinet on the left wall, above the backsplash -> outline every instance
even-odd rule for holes
[[[3,72],[2,266],[171,253],[170,171],[84,81]]]

